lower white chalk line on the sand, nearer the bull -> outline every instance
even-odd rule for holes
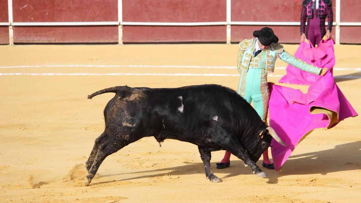
[[[0,73],[0,75],[161,75],[161,76],[239,76],[238,74],[192,74],[192,73]],[[268,74],[268,77],[283,77],[284,75]],[[334,78],[361,78],[358,76],[334,76]]]

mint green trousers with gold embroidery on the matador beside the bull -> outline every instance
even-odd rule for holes
[[[269,91],[266,71],[260,68],[248,68],[247,72],[242,71],[239,77],[238,94],[249,104],[253,101],[253,108],[267,124]]]

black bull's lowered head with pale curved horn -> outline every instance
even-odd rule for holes
[[[271,127],[267,127],[265,130],[262,130],[258,134],[258,143],[255,146],[255,151],[248,153],[249,157],[253,162],[256,163],[258,159],[260,159],[262,153],[266,151],[266,149],[271,145],[272,138],[275,139],[275,141],[277,141],[278,143],[287,147],[287,145],[282,142],[281,138],[278,137],[274,129]]]

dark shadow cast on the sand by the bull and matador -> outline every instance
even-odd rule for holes
[[[257,162],[257,165],[260,166],[262,170],[268,175],[269,181],[267,183],[275,184],[278,183],[278,178],[282,176],[295,175],[295,174],[323,174],[331,172],[339,172],[345,170],[358,170],[361,169],[361,141],[345,143],[337,145],[335,148],[330,150],[323,150],[317,152],[310,152],[306,154],[290,156],[286,161],[283,167],[278,170],[268,170],[262,167],[262,160]],[[195,148],[196,150],[196,148]],[[200,160],[201,161],[201,160]],[[205,177],[204,174],[204,165],[200,163],[187,163],[186,165],[171,167],[171,168],[162,168],[156,170],[144,170],[139,172],[132,173],[123,173],[123,174],[135,174],[132,178],[126,178],[121,180],[114,180],[108,182],[116,181],[127,181],[127,180],[137,180],[140,178],[150,178],[157,176],[179,176],[187,174],[199,174],[200,176]],[[222,180],[226,180],[230,177],[239,176],[242,174],[252,174],[252,170],[249,167],[243,167],[242,160],[231,161],[231,166],[225,169],[216,169],[216,162],[211,163],[212,168],[216,175]],[[162,171],[172,170],[171,172],[162,173]],[[136,174],[141,173],[153,173],[160,172],[159,174],[152,175],[142,175],[136,176]],[[227,174],[225,176],[219,175],[219,173]],[[118,176],[121,174],[111,174],[105,176],[98,176],[97,178],[106,177],[106,176]],[[252,174],[253,175],[253,174]],[[206,181],[206,180],[205,180]],[[91,185],[98,185],[108,182],[95,182]]]

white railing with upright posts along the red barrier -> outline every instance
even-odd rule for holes
[[[0,26],[9,26],[9,44],[14,44],[13,26],[118,26],[118,43],[123,44],[123,25],[137,26],[226,26],[226,43],[231,43],[231,25],[278,25],[300,26],[300,22],[269,22],[269,21],[231,21],[231,0],[226,1],[226,21],[219,22],[123,22],[122,0],[118,0],[118,21],[99,22],[13,22],[12,0],[8,0],[9,22],[0,22]],[[340,26],[361,26],[361,22],[340,22],[340,0],[336,0],[336,21],[332,23],[336,27],[336,44],[340,43]],[[326,22],[325,25],[328,23]]]

